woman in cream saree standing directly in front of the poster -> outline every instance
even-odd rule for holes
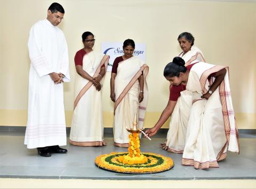
[[[137,113],[139,128],[143,127],[147,106],[148,87],[146,77],[148,66],[133,56],[135,43],[132,39],[124,41],[124,55],[113,63],[110,79],[110,98],[114,105],[114,145],[129,147],[129,132],[134,113]]]

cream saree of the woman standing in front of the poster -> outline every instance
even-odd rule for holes
[[[140,86],[138,78],[143,74],[143,101],[139,103]],[[131,57],[118,64],[115,78],[116,102],[114,107],[114,144],[128,147],[129,132],[126,127],[132,127],[134,113],[137,113],[139,128],[143,127],[148,98],[146,77],[148,66],[138,57]]]

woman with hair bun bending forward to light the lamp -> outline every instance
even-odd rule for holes
[[[173,85],[186,85],[180,97],[180,103],[187,106],[179,120],[181,127],[187,124],[182,165],[219,167],[227,150],[239,152],[228,67],[198,62],[189,71],[183,59],[174,57],[164,76]]]

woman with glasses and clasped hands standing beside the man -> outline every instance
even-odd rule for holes
[[[82,35],[84,48],[75,55],[75,102],[69,142],[77,146],[103,146],[101,87],[109,56],[93,51],[94,35]]]

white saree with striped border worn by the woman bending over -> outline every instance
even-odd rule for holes
[[[207,78],[211,73],[223,68],[227,69],[227,73],[220,86],[208,100],[201,98],[214,81],[213,77],[210,82]],[[194,166],[196,169],[219,167],[217,161],[226,158],[227,150],[239,152],[228,68],[198,62],[189,72],[185,92],[189,92],[192,104],[190,110],[188,109],[189,119],[182,165]],[[183,95],[184,93],[181,93],[181,96]],[[185,117],[188,112],[185,112]]]

